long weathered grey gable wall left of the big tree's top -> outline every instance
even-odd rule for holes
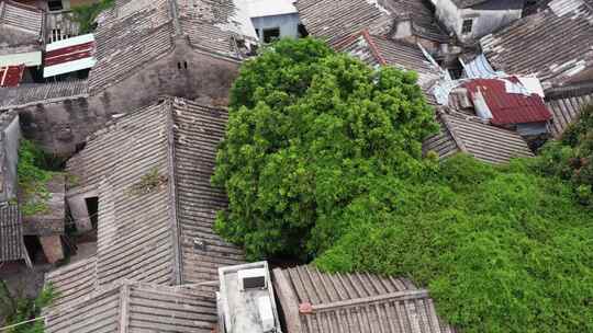
[[[65,99],[21,108],[26,138],[46,151],[70,157],[82,148],[88,135],[113,115],[146,106],[163,95],[225,105],[239,62],[192,48],[184,38],[175,49],[123,81],[89,92],[88,97]]]

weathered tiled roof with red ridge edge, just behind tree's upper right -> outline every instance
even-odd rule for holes
[[[418,84],[427,89],[440,78],[417,45],[371,35],[363,31],[339,45],[342,51],[371,65],[389,65],[418,73]]]

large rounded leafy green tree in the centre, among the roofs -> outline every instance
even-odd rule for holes
[[[340,208],[380,175],[418,173],[435,130],[414,72],[280,41],[233,87],[213,176],[230,209],[216,229],[251,257],[314,255],[337,237],[314,226],[340,223]]]

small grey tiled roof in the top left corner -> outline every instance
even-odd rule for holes
[[[0,54],[25,53],[40,47],[43,12],[14,1],[0,1]]]

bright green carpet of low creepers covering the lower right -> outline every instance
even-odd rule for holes
[[[463,332],[593,332],[593,216],[534,162],[459,156],[384,179],[315,263],[409,276]]]

